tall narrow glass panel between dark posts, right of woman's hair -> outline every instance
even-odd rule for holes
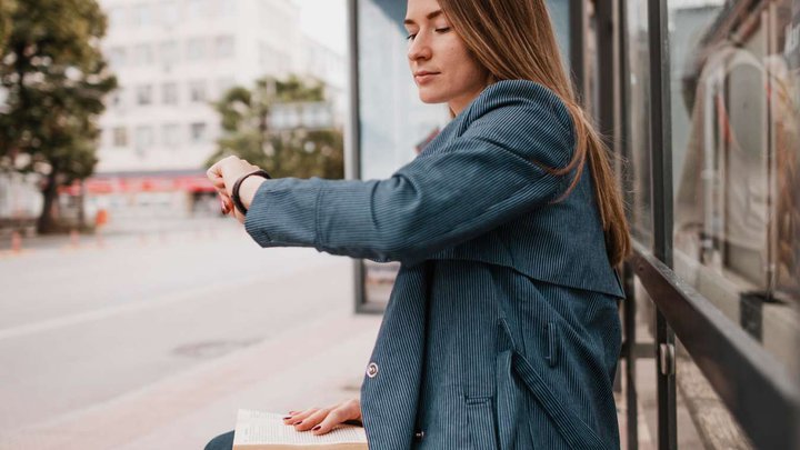
[[[650,192],[650,50],[646,1],[624,2],[628,38],[628,147],[627,177],[631,182],[631,232],[644,247],[652,247]]]

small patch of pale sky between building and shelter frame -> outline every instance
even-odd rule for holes
[[[318,41],[344,54],[347,52],[346,0],[293,0],[300,6],[300,27]]]

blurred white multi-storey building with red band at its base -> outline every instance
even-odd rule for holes
[[[196,200],[212,192],[202,178],[220,134],[210,103],[233,86],[310,76],[326,83],[331,103],[277,109],[273,126],[330,126],[343,116],[343,56],[302,34],[291,0],[100,4],[109,18],[102,48],[120,89],[100,119],[100,162],[86,186],[89,212],[174,216],[206,204]]]

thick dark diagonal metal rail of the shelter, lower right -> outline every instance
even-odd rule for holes
[[[754,447],[792,449],[800,444],[790,432],[800,419],[800,390],[780,362],[642,247],[637,248],[631,263],[664,320]]]

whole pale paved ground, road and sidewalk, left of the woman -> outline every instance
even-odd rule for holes
[[[380,317],[349,259],[231,220],[74,243],[0,253],[0,448],[194,449],[238,408],[358,396]]]

